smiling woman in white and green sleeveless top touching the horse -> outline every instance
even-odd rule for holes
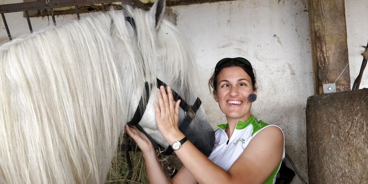
[[[157,93],[157,126],[169,144],[179,140],[182,144],[175,153],[183,167],[171,181],[162,171],[147,137],[126,126],[143,152],[150,183],[274,183],[285,154],[284,134],[279,127],[251,115],[251,103],[257,94],[251,64],[244,58],[224,58],[216,64],[209,85],[227,121],[218,125],[209,158],[185,141],[185,135],[179,131],[180,101],[174,104],[171,88],[166,93],[161,86]]]

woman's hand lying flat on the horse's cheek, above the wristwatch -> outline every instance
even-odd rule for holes
[[[184,135],[178,128],[180,100],[174,104],[170,86],[167,88],[167,93],[164,86],[160,86],[156,95],[158,104],[154,101],[153,106],[159,131],[169,144],[181,140]]]

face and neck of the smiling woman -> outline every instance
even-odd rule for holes
[[[245,121],[250,118],[249,94],[253,90],[249,75],[239,66],[225,67],[217,76],[214,99],[225,114],[227,121]]]

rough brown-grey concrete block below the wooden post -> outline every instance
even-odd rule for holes
[[[368,183],[368,89],[309,97],[309,183]]]

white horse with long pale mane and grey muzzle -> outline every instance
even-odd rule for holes
[[[168,146],[154,118],[156,78],[193,104],[198,75],[164,10],[164,0],[149,12],[127,6],[0,48],[0,183],[103,183],[145,81],[153,87],[140,125]],[[202,107],[185,134],[210,154],[213,129]]]

